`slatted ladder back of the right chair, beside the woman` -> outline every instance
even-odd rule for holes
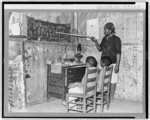
[[[105,92],[105,90],[110,91],[112,72],[113,65],[103,68],[101,92]]]

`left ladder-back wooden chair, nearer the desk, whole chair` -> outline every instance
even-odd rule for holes
[[[96,112],[97,68],[86,68],[84,79],[83,93],[66,94],[67,112]],[[75,99],[69,100],[70,97]]]

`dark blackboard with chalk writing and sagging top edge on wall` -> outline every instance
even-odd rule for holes
[[[56,24],[27,17],[27,36],[29,40],[70,42],[70,36],[55,32],[70,33],[70,24]]]

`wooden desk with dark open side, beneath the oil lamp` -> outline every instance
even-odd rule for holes
[[[52,73],[51,65],[47,65],[47,100],[51,97],[65,100],[68,92],[68,85],[74,82],[81,82],[85,74],[85,64],[61,66],[61,73]]]

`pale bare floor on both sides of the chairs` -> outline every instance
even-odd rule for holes
[[[142,113],[142,102],[115,99],[111,101],[109,110],[104,108],[105,113]],[[20,112],[49,112],[49,113],[66,113],[65,106],[60,99],[53,99],[49,102],[32,105]],[[100,112],[100,108],[97,108]]]

